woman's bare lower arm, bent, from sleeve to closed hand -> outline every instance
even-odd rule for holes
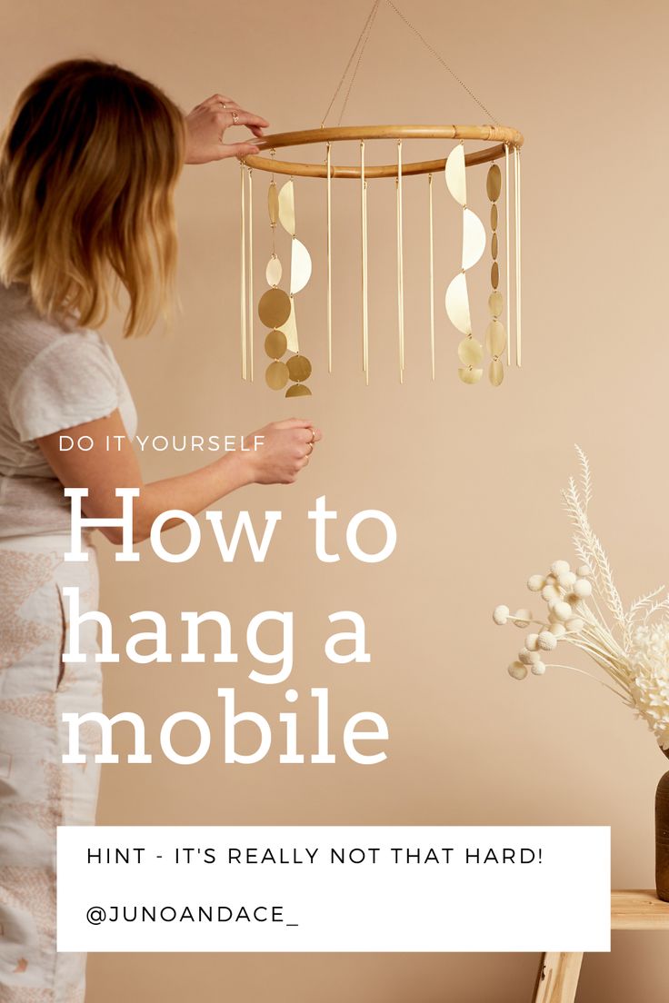
[[[94,445],[87,451],[76,447],[63,451],[60,435],[65,431],[75,442],[79,436],[88,435]],[[182,509],[197,516],[245,484],[293,483],[309,462],[310,443],[321,438],[321,432],[304,418],[289,418],[266,425],[247,435],[245,444],[253,444],[256,435],[264,437],[257,449],[227,452],[192,473],[154,480],[150,484],[143,482],[136,454],[117,410],[106,418],[45,435],[37,439],[37,444],[63,487],[88,488],[82,509],[89,519],[118,519],[121,499],[116,497],[116,488],[138,487],[133,529],[134,540],[139,542],[148,537],[155,517],[169,509]],[[107,436],[113,449],[105,447]],[[118,450],[116,442],[120,443]],[[173,520],[164,529],[178,525],[179,521]],[[120,528],[104,528],[101,532],[112,544],[121,542]]]

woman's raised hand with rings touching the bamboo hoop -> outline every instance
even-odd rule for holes
[[[187,163],[209,163],[226,156],[258,153],[259,147],[253,141],[224,142],[226,129],[231,125],[248,125],[254,135],[261,136],[269,124],[260,115],[245,111],[231,97],[213,94],[186,116],[185,160]]]

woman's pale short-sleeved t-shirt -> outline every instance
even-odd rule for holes
[[[34,441],[116,408],[136,411],[104,339],[35,311],[27,287],[0,283],[0,538],[67,533],[69,499]]]

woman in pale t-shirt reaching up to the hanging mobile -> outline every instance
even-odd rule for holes
[[[259,136],[268,123],[221,94],[185,116],[133,73],[70,60],[26,87],[0,141],[0,1003],[84,998],[85,956],[55,951],[55,827],[94,821],[99,736],[83,738],[85,767],[64,766],[61,714],[99,710],[101,680],[94,629],[86,663],[62,664],[62,589],[96,609],[97,580],[89,540],[87,563],[63,563],[63,486],[88,488],[93,519],[118,517],[115,488],[138,486],[142,540],[168,509],[195,515],[245,484],[294,481],[320,438],[310,421],[280,421],[254,433],[256,451],[144,484],[133,403],[97,333],[119,285],[126,336],[170,315],[175,186],[185,161],[257,151],[253,137],[224,142],[232,124]],[[61,451],[64,429],[97,444]],[[118,451],[102,448],[107,435],[122,436]]]

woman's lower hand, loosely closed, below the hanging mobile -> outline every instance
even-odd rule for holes
[[[255,436],[262,436],[254,449]],[[307,418],[287,418],[273,421],[264,428],[244,437],[245,462],[250,480],[256,484],[292,484],[313,452],[314,443],[322,438],[319,428]]]

